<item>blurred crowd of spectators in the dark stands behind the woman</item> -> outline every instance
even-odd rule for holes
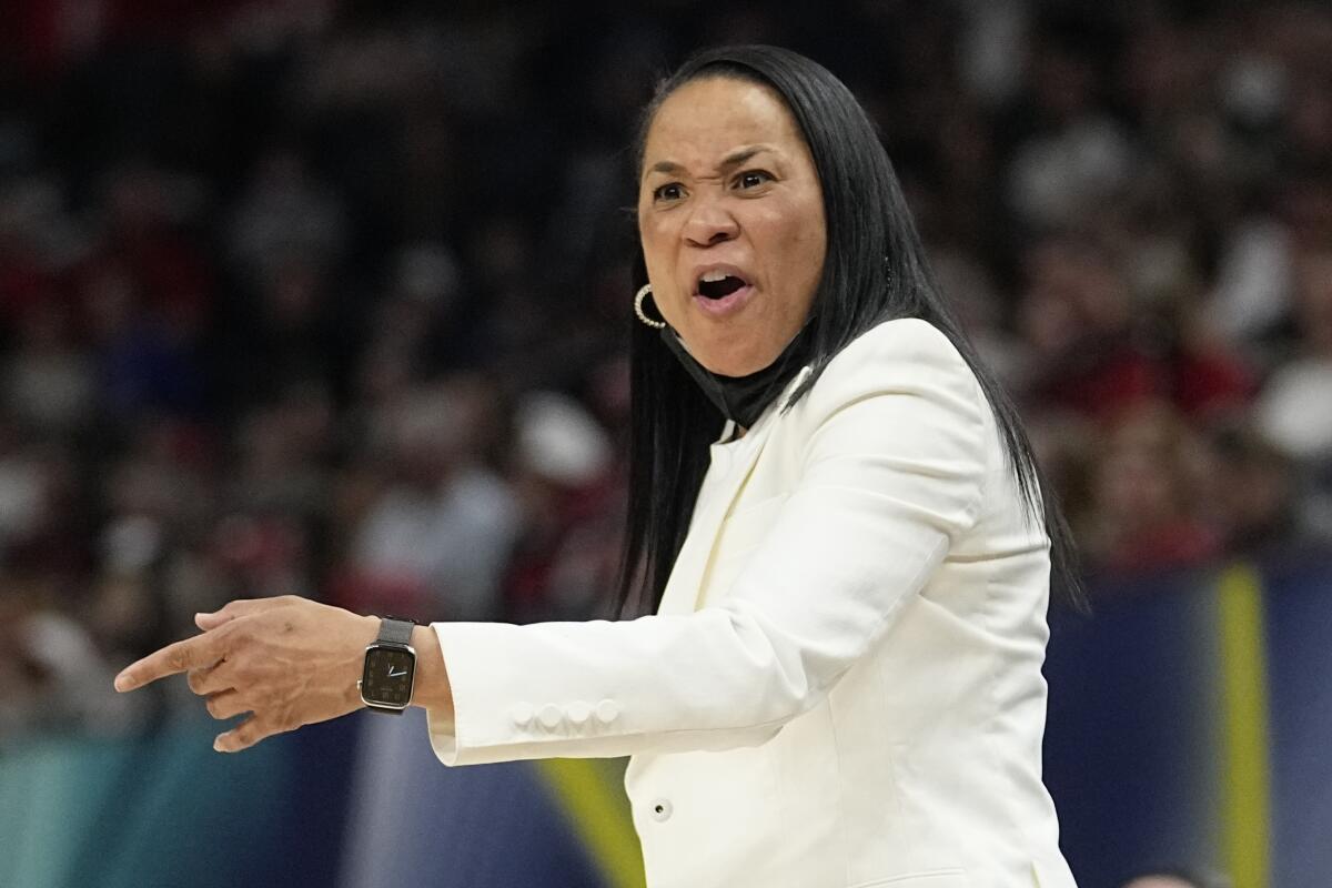
[[[155,718],[234,596],[607,615],[629,145],[710,43],[870,108],[1090,571],[1332,538],[1327,4],[7,5],[0,739]]]

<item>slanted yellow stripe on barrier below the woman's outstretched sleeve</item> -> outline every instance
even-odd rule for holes
[[[546,784],[563,803],[610,888],[646,888],[643,857],[621,788],[622,763],[599,759],[546,759]]]

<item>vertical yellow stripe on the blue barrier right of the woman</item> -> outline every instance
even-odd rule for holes
[[[1233,564],[1220,578],[1225,857],[1235,888],[1268,888],[1267,651],[1257,574]]]

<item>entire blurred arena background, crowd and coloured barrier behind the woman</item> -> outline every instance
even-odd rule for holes
[[[237,595],[606,614],[627,146],[725,41],[871,109],[1068,506],[1080,883],[1332,884],[1325,3],[8,0],[0,885],[642,884],[619,762],[364,714],[218,756],[111,676]]]

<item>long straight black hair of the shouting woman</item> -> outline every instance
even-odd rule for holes
[[[920,318],[938,328],[971,366],[1003,438],[1008,463],[1032,519],[1051,542],[1051,586],[1080,604],[1068,525],[1023,430],[1018,410],[946,305],[926,260],[896,173],[879,134],[851,91],[822,65],[777,47],[719,47],[690,57],[657,88],[643,111],[635,142],[641,174],[647,129],[661,104],[702,77],[749,80],[774,89],[805,136],[823,190],[827,250],[807,333],[795,367],[813,373],[790,403],[818,382],[852,339],[894,318]],[[633,288],[647,282],[642,253]],[[630,333],[629,518],[618,590],[622,615],[655,611],[685,541],[709,443],[722,414],[703,395],[659,334],[633,322]]]

